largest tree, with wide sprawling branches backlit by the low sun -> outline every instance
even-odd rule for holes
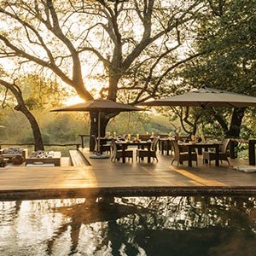
[[[201,9],[196,0],[3,1],[8,29],[0,33],[1,55],[51,71],[84,100],[95,96],[84,86],[82,67],[95,67],[94,78],[108,79],[102,97],[136,104],[157,96],[167,74],[201,55],[187,55],[184,45]],[[96,134],[95,113],[90,118]],[[102,134],[110,118],[102,118]]]

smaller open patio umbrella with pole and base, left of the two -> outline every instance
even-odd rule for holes
[[[128,104],[123,104],[119,102],[113,102],[105,99],[96,99],[88,102],[78,103],[72,106],[67,106],[63,108],[56,108],[51,111],[84,111],[90,112],[95,111],[98,113],[98,147],[97,152],[94,155],[90,155],[90,158],[108,158],[107,154],[100,154],[100,131],[101,131],[101,113],[119,113],[127,111],[141,111],[143,108],[137,108]]]

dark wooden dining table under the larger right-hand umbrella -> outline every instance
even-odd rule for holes
[[[218,142],[201,142],[201,143],[195,143],[195,142],[189,142],[189,143],[181,143],[183,147],[188,148],[189,153],[189,167],[192,166],[192,152],[195,150],[195,148],[198,149],[204,149],[205,151],[208,151],[208,148],[213,148],[215,150],[216,158],[215,158],[215,166],[219,166],[219,146],[221,143]]]

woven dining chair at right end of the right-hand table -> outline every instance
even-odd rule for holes
[[[222,162],[223,160],[227,161],[230,166],[230,161],[228,159],[228,148],[230,145],[230,138],[222,139],[221,144],[219,145],[218,159]],[[209,165],[211,165],[211,161],[216,159],[216,153],[211,151],[203,152],[203,163],[208,161]]]

